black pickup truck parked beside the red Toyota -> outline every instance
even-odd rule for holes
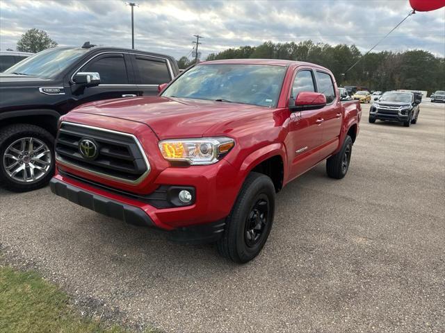
[[[60,115],[91,101],[156,95],[177,74],[170,56],[89,43],[10,67],[0,74],[0,185],[30,191],[49,182]]]

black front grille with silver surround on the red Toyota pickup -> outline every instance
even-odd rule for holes
[[[84,140],[94,143],[92,157],[81,151]],[[149,171],[133,135],[75,123],[60,125],[56,154],[60,164],[123,182],[140,182]]]

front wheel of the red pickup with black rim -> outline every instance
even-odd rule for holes
[[[268,239],[275,212],[275,187],[272,180],[251,172],[241,188],[232,212],[226,219],[218,252],[239,264],[260,253]]]

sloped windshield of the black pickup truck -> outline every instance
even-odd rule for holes
[[[47,49],[22,60],[4,71],[6,74],[23,74],[52,78],[83,56],[87,49]]]

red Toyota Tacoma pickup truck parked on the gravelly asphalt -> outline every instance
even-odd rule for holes
[[[328,69],[202,62],[160,89],[63,116],[54,194],[248,262],[268,238],[275,193],[325,159],[328,176],[348,171],[362,111],[340,102]]]

